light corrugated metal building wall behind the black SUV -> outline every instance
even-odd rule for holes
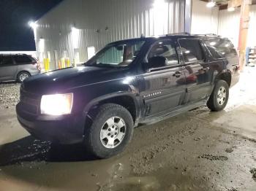
[[[37,24],[34,34],[39,58],[50,57],[53,63],[67,54],[72,62],[84,62],[89,46],[99,50],[108,42],[141,34],[184,31],[184,1],[66,0]]]

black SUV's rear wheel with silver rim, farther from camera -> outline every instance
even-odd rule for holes
[[[227,105],[229,97],[229,86],[224,80],[218,80],[214,86],[210,98],[207,101],[208,109],[212,112],[219,112]]]

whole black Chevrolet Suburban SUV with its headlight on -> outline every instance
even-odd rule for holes
[[[139,123],[207,104],[225,108],[238,82],[233,44],[214,35],[166,35],[108,44],[84,66],[50,71],[20,87],[18,120],[33,136],[83,142],[97,157],[118,154]]]

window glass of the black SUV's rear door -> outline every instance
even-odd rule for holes
[[[179,39],[181,52],[186,63],[203,61],[205,55],[198,39]]]

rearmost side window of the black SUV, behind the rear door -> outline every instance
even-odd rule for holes
[[[228,39],[203,40],[214,58],[232,58],[237,55],[236,48]]]

